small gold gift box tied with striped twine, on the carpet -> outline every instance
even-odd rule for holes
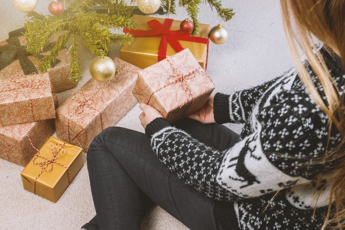
[[[70,180],[73,180],[84,163],[81,148],[65,143],[53,136],[49,137],[49,140],[39,150],[39,156],[51,160],[53,158],[52,144],[53,150],[57,152],[57,158],[53,163],[34,164],[34,162],[43,163],[48,161],[44,158],[37,157],[36,154],[21,172],[21,177],[24,189],[32,193],[35,190],[36,195],[57,202],[69,186],[69,173]],[[64,147],[61,148],[61,145]],[[42,171],[42,168],[45,168],[46,171]],[[69,173],[67,168],[69,169]]]

